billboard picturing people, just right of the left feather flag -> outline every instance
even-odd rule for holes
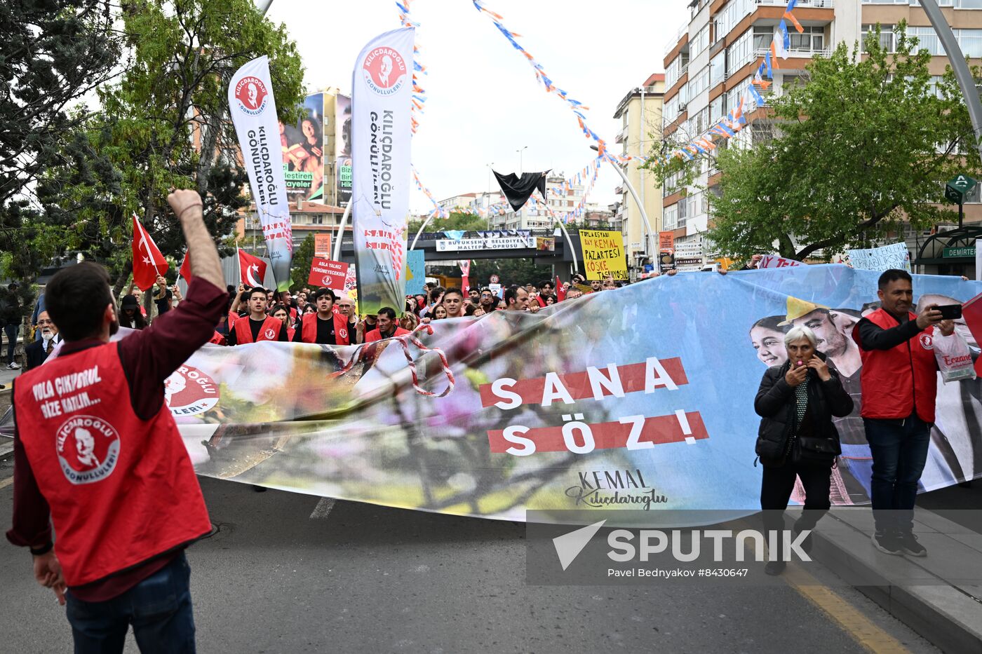
[[[307,95],[297,125],[280,123],[283,171],[291,200],[324,197],[324,94]]]

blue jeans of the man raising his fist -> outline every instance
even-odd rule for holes
[[[76,654],[122,652],[133,625],[143,654],[194,652],[191,567],[184,552],[119,597],[84,602],[68,592]]]

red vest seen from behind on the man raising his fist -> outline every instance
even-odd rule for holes
[[[211,529],[170,409],[162,405],[149,420],[136,415],[117,344],[22,374],[14,405],[68,585],[126,570]]]

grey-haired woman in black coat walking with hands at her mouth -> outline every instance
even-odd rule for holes
[[[786,566],[780,532],[795,478],[801,479],[805,493],[804,511],[794,522],[795,535],[814,528],[829,510],[832,465],[842,452],[832,417],[852,410],[839,373],[829,368],[825,354],[815,350],[816,343],[809,328],[791,328],[785,335],[788,360],[767,369],[753,403],[761,417],[756,450],[764,466],[760,486],[764,528],[779,532],[765,567],[768,574],[780,574]],[[811,534],[801,545],[805,551],[811,549]]]

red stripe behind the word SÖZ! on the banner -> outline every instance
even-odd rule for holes
[[[631,450],[647,449],[652,447],[646,445],[664,445],[666,443],[682,443],[686,439],[688,442],[709,438],[706,425],[702,421],[699,411],[686,411],[685,422],[676,415],[656,415],[644,418],[644,425],[641,433],[636,437],[636,443],[631,443]],[[563,436],[564,427],[537,427],[527,431],[515,431],[511,427],[512,440],[505,438],[505,429],[494,429],[488,432],[488,444],[491,446],[492,454],[513,454],[516,456],[527,456],[536,452],[573,452],[578,449],[580,454],[586,454],[584,450],[611,450],[614,448],[627,448],[627,440],[630,436],[633,421],[621,422],[599,422],[589,426],[591,436],[586,436],[581,428],[573,428],[572,422],[566,428],[570,431],[572,448],[567,444]],[[582,423],[578,423],[582,424]],[[685,428],[687,427],[687,429]],[[593,447],[589,448],[590,438]],[[520,439],[528,439],[532,444],[522,442]],[[509,448],[514,448],[509,452]]]

